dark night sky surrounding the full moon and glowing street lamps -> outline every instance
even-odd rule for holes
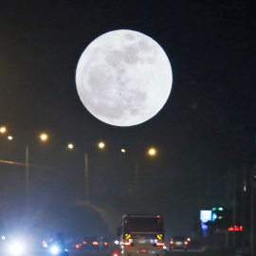
[[[84,201],[84,152],[90,202],[103,209],[102,223],[111,228],[116,225],[111,216],[119,220],[127,211],[157,211],[166,219],[167,234],[189,235],[200,209],[229,207],[229,176],[251,166],[255,155],[254,13],[250,0],[2,0],[0,124],[8,126],[14,139],[7,143],[0,137],[0,159],[24,163],[29,143],[29,162],[41,166],[30,168],[35,219],[45,214],[53,220],[72,219],[73,227],[79,227],[78,216],[85,210],[88,226],[93,207],[71,207]],[[75,84],[84,48],[115,29],[152,37],[165,50],[174,73],[165,106],[134,127],[94,118]],[[41,131],[49,134],[46,145],[37,142]],[[107,145],[104,153],[96,146],[101,139]],[[69,141],[76,147],[72,153],[64,149]],[[158,155],[149,159],[145,152],[152,145]],[[119,154],[122,147],[126,155]],[[1,205],[3,216],[13,205],[24,204],[24,169],[0,165],[1,196],[14,202]],[[60,210],[53,209],[65,204],[70,209],[60,217]],[[69,231],[62,228],[64,222],[59,225]]]

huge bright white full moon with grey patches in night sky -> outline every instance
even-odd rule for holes
[[[168,100],[172,67],[151,37],[120,29],[102,34],[82,52],[76,85],[85,108],[97,119],[132,126],[152,119]]]

